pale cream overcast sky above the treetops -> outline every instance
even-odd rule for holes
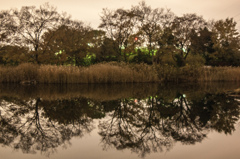
[[[39,6],[45,2],[57,7],[59,12],[67,12],[73,19],[81,20],[97,28],[103,8],[129,9],[141,0],[0,0],[0,10],[20,9],[22,6]],[[169,8],[176,15],[197,13],[205,20],[233,17],[240,30],[240,0],[145,0],[152,8]]]

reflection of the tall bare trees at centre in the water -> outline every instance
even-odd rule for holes
[[[104,149],[114,146],[118,150],[131,149],[144,156],[161,150],[162,146],[171,147],[168,136],[163,139],[156,134],[155,120],[153,116],[147,116],[144,105],[145,102],[134,99],[119,101],[109,114],[111,118],[99,124]]]

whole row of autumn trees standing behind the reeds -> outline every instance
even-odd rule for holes
[[[130,9],[103,9],[100,18],[99,29],[93,29],[48,3],[1,11],[0,64],[240,65],[233,18],[207,22],[196,14],[176,16],[151,8],[144,1]]]

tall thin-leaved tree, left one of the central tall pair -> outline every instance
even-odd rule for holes
[[[123,54],[124,60],[127,61],[126,50],[129,45],[129,38],[135,32],[137,21],[134,12],[124,9],[114,11],[103,9],[101,21],[99,28],[103,28],[107,37],[114,41],[119,60],[121,60]]]

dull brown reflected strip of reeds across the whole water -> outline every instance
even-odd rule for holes
[[[0,84],[0,97],[11,96],[21,99],[42,98],[44,100],[90,98],[109,101],[121,98],[146,98],[149,96],[169,96],[172,99],[176,92],[187,94],[188,97],[200,96],[203,93],[234,91],[240,83],[188,83],[188,84],[68,84],[68,85],[18,85]]]

